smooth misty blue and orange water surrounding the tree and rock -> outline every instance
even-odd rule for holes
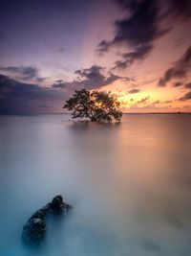
[[[0,117],[0,256],[190,256],[191,115]],[[74,209],[22,244],[32,213],[62,194]]]

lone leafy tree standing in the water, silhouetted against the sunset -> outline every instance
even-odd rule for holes
[[[72,112],[73,119],[87,119],[91,122],[120,121],[122,112],[117,98],[103,91],[75,90],[63,108]]]

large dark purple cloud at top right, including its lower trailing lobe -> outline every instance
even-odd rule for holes
[[[128,46],[134,50],[117,60],[115,68],[124,69],[135,60],[146,58],[153,49],[153,42],[168,29],[159,27],[159,1],[156,0],[116,0],[126,12],[123,19],[115,22],[116,34],[111,41],[102,40],[98,44],[99,53],[107,52],[114,46]]]

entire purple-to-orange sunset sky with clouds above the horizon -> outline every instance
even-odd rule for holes
[[[190,32],[190,0],[0,0],[0,114],[61,113],[84,87],[191,112]]]

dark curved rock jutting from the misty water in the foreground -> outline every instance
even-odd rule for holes
[[[27,243],[39,243],[46,233],[46,216],[48,213],[53,214],[73,208],[70,204],[63,201],[62,196],[56,196],[52,202],[47,203],[44,207],[37,210],[32,217],[23,226],[22,239]]]

